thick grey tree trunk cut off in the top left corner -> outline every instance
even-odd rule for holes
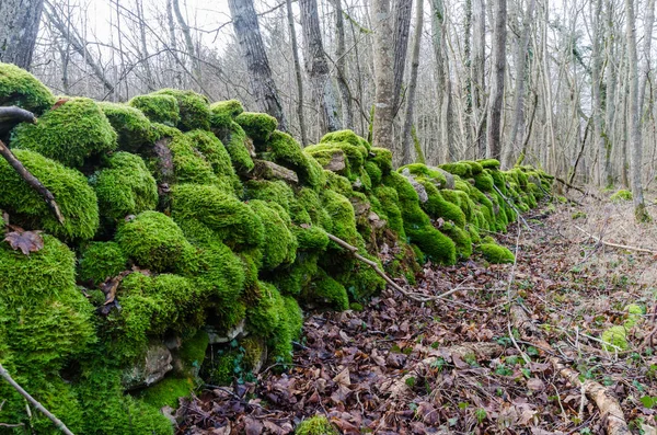
[[[44,0],[0,1],[0,61],[30,69]]]

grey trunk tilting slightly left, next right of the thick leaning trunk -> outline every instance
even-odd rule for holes
[[[328,61],[322,44],[316,0],[300,0],[303,26],[303,58],[310,79],[312,102],[320,114],[320,130],[335,131],[341,128],[337,104],[333,94]]]

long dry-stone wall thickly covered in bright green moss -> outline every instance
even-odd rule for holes
[[[160,410],[201,378],[285,366],[303,309],[379,293],[327,233],[377,262],[387,245],[381,266],[413,283],[426,261],[514,261],[484,236],[551,185],[495,160],[394,170],[350,130],[302,149],[273,117],[191,91],[55,101],[0,64],[0,104],[39,115],[9,146],[66,218],[0,159],[0,209],[44,231],[31,255],[0,243],[0,363],[79,434],[172,434]],[[0,422],[56,433],[3,382],[0,398]]]

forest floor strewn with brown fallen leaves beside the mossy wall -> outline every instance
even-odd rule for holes
[[[657,250],[657,225],[636,225],[631,202],[568,196],[577,204],[544,204],[494,234],[516,264],[427,266],[406,287],[427,299],[458,288],[445,298],[388,289],[360,312],[310,313],[286,373],[208,387],[178,411],[178,433],[287,434],[315,414],[344,434],[608,433],[615,416],[593,400],[595,385],[632,433],[655,434],[655,254],[599,239]],[[647,313],[627,330],[627,351],[607,351],[600,336],[623,324],[629,304]]]

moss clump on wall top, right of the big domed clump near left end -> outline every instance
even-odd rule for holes
[[[101,102],[99,106],[118,135],[118,148],[137,152],[154,142],[158,134],[141,111],[126,104]]]

